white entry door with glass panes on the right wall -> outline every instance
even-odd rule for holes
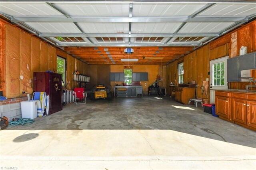
[[[228,89],[228,56],[210,61],[210,103],[215,103],[215,90]]]

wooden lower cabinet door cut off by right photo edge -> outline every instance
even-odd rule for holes
[[[256,128],[256,101],[247,101],[247,125]]]

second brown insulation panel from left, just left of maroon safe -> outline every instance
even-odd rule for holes
[[[20,31],[20,75],[23,76],[20,93],[33,92],[31,71],[31,36]]]

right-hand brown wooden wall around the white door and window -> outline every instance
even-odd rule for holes
[[[209,99],[208,96],[201,95],[202,81],[206,78],[210,79],[208,72],[210,71],[210,60],[218,59],[220,57],[229,56],[236,57],[239,55],[241,46],[247,46],[247,53],[256,51],[256,21],[242,26],[225,36],[222,36],[213,42],[200,47],[192,53],[170,63],[166,68],[167,81],[166,86],[170,85],[172,81],[178,84],[178,68],[179,62],[184,61],[184,83],[191,83],[196,81],[197,97]],[[256,70],[252,70],[252,77],[256,77]],[[231,89],[246,89],[247,82],[230,83]],[[168,89],[169,93],[169,89]]]

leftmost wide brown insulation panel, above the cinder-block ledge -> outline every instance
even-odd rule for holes
[[[6,24],[6,97],[20,94],[20,30]]]

